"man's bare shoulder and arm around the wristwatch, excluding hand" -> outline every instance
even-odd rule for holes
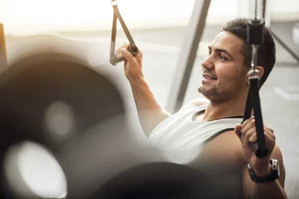
[[[216,136],[206,144],[204,149],[205,151],[202,153],[208,151],[209,153],[205,157],[215,159],[215,165],[221,165],[222,167],[228,165],[231,168],[241,169],[241,173],[238,173],[242,176],[245,199],[287,199],[284,190],[286,172],[283,156],[277,145],[271,154],[271,158],[279,161],[280,178],[263,184],[255,183],[251,180],[247,169],[248,162],[244,156],[240,138],[235,131],[227,131]]]

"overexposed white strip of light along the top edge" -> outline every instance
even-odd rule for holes
[[[130,29],[172,27],[188,25],[194,3],[195,0],[118,0],[118,7]],[[239,0],[212,0],[207,23],[221,24],[224,19],[244,15],[239,13],[239,4]],[[0,0],[0,21],[10,34],[111,30],[112,19],[110,0]]]

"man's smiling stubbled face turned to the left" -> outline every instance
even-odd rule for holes
[[[220,32],[209,45],[209,56],[201,63],[202,83],[198,88],[208,100],[222,103],[247,88],[242,45],[243,40],[230,32]]]

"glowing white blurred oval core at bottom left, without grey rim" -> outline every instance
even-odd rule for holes
[[[66,197],[66,179],[55,157],[44,147],[25,142],[18,154],[20,174],[27,186],[41,198]]]

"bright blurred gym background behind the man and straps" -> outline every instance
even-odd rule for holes
[[[118,0],[121,14],[144,53],[143,71],[150,89],[164,107],[169,96],[195,0]],[[252,17],[254,0],[211,0],[205,27],[183,103],[197,92],[207,45],[227,20]],[[94,67],[109,66],[113,8],[110,0],[0,0],[8,61],[39,40],[59,37],[88,49]],[[266,25],[275,35],[277,63],[260,91],[264,123],[275,130],[286,167],[286,192],[299,198],[299,1],[268,0]],[[54,41],[54,39],[53,39]],[[117,45],[127,42],[118,24]],[[22,45],[22,48],[16,46]],[[132,122],[138,121],[123,63],[111,66],[124,86]],[[141,139],[144,139],[140,126]]]

